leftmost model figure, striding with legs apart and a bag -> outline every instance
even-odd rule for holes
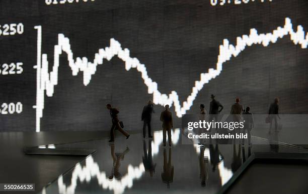
[[[119,111],[116,108],[112,108],[111,104],[106,105],[107,109],[109,110],[111,120],[112,120],[112,126],[110,129],[110,140],[109,142],[114,141],[114,131],[115,129],[118,129],[123,135],[126,136],[126,139],[129,137],[129,133],[127,133],[122,127],[120,126],[120,120],[118,118]]]

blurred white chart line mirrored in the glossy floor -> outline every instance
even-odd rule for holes
[[[181,136],[180,129],[176,129],[172,131],[172,144],[177,145]],[[152,156],[156,156],[159,153],[159,147],[163,142],[163,132],[156,131],[153,133],[153,141],[151,143],[152,147]],[[199,153],[199,149],[197,144],[194,144],[194,149],[196,153]],[[205,148],[204,155],[208,156],[210,159],[209,149]],[[221,179],[221,184],[223,185],[225,182],[229,180],[229,178],[233,175],[230,169],[227,169],[224,166],[223,161],[218,164],[218,171]],[[133,167],[131,164],[127,167],[127,173],[121,177],[120,180],[113,179],[112,181],[108,180],[108,176],[105,171],[100,171],[99,164],[94,161],[92,155],[89,155],[86,158],[85,166],[82,166],[80,163],[77,163],[72,170],[71,175],[71,184],[66,186],[63,182],[63,176],[60,175],[57,179],[58,192],[60,194],[73,194],[75,193],[75,188],[77,186],[78,179],[81,182],[87,181],[89,182],[91,179],[97,179],[98,184],[103,189],[113,190],[114,194],[121,194],[125,191],[125,188],[130,188],[133,185],[133,180],[139,179],[145,172],[143,163],[141,162],[138,166]],[[43,188],[42,194],[46,194],[46,188]]]

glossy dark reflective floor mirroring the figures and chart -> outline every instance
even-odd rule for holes
[[[96,149],[84,161],[45,186],[41,193],[216,193],[253,152],[308,152],[287,144],[185,145],[181,132],[172,132],[172,147],[163,146],[163,133],[153,139],[134,134],[53,148]],[[46,146],[45,146],[46,147]],[[42,146],[42,148],[45,148]]]

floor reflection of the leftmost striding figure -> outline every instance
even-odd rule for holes
[[[124,159],[124,155],[129,151],[128,147],[126,147],[123,153],[115,153],[114,152],[114,144],[110,144],[111,157],[113,159],[113,167],[111,171],[111,175],[108,177],[109,180],[113,180],[113,177],[119,179],[121,177],[121,173],[119,172],[119,167],[121,165],[120,161]]]

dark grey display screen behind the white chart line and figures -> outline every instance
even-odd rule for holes
[[[1,1],[0,24],[23,23],[24,34],[0,36],[0,63],[23,62],[21,75],[0,76],[0,99],[22,102],[21,114],[0,115],[1,131],[35,131],[37,31],[42,26],[42,53],[48,54],[52,69],[57,35],[69,38],[76,57],[93,61],[110,38],[130,50],[130,56],[145,64],[148,76],[158,83],[161,93],[176,91],[181,104],[191,93],[200,73],[215,68],[223,39],[236,44],[236,38],[270,33],[283,26],[289,17],[296,31],[308,31],[308,2],[273,0],[241,5],[211,6],[210,1],[99,1],[73,4],[45,4],[45,1]],[[210,94],[229,113],[236,97],[251,112],[267,113],[275,97],[280,98],[281,113],[308,113],[308,51],[294,45],[289,36],[268,47],[248,47],[238,57],[223,64],[221,74],[205,84],[189,114],[199,112],[199,104],[209,109]],[[104,60],[88,86],[83,73],[72,76],[66,54],[60,56],[58,85],[53,97],[45,95],[42,131],[109,130],[107,103],[120,110],[125,129],[142,128],[141,111],[152,95],[140,73],[125,70],[114,57]],[[153,125],[160,127],[162,106],[155,106]],[[174,111],[173,107],[171,108]],[[176,117],[175,112],[173,112]],[[181,125],[175,119],[175,126]]]

